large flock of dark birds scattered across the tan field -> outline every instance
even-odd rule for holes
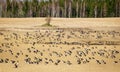
[[[120,63],[120,31],[43,28],[0,31],[0,64],[80,65]]]

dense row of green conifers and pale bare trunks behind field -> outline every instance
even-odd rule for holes
[[[120,17],[120,0],[6,0],[2,17]]]

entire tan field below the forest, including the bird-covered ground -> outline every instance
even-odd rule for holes
[[[0,72],[120,72],[120,18],[0,18]]]

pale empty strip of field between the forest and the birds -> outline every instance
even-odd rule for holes
[[[0,27],[8,28],[29,28],[45,23],[46,18],[0,18]],[[51,18],[51,24],[62,28],[117,27],[120,26],[120,18]]]

